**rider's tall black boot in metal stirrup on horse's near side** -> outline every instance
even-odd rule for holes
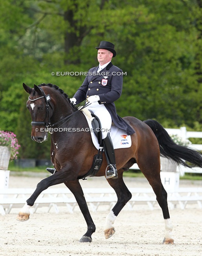
[[[110,135],[107,134],[107,137],[103,139],[103,147],[105,150],[105,156],[107,159],[107,168],[106,168],[106,178],[118,178],[117,169],[116,169],[116,160],[115,160],[115,154],[114,154],[114,147],[112,143],[112,139],[110,138]]]

